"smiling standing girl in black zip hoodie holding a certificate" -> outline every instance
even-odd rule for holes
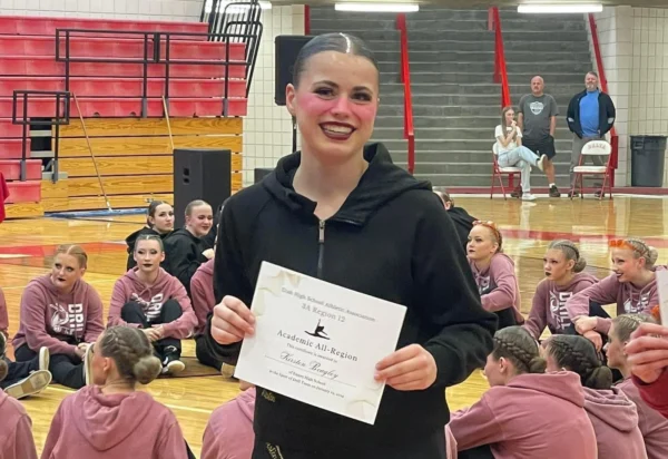
[[[286,88],[302,150],[223,209],[218,304],[205,335],[225,363],[236,363],[254,332],[248,307],[263,261],[406,306],[397,351],[369,369],[369,384],[386,383],[375,424],[257,388],[254,459],[440,459],[443,391],[491,350],[495,320],[480,305],[443,204],[382,144],[367,144],[379,80],[360,39],[328,33],[306,43]]]

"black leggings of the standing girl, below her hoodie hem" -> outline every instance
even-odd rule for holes
[[[343,446],[342,448],[350,447]],[[332,451],[292,450],[255,440],[252,459],[445,459],[445,436],[439,432],[432,437],[416,439],[411,445],[377,445],[365,450],[341,449]]]

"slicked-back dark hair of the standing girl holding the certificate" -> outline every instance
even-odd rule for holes
[[[293,85],[295,88],[299,85],[299,78],[306,70],[306,62],[308,59],[325,51],[336,51],[345,55],[363,57],[371,61],[376,70],[379,70],[379,62],[375,60],[373,51],[362,39],[348,33],[323,33],[314,37],[311,41],[304,45],[297,55],[295,66],[293,68]]]

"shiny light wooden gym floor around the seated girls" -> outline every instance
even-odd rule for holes
[[[522,312],[528,313],[533,290],[542,277],[542,256],[550,241],[570,238],[580,245],[589,270],[599,277],[609,266],[608,241],[620,236],[644,237],[668,255],[668,198],[617,196],[613,201],[539,198],[536,203],[501,198],[459,197],[459,206],[480,219],[497,222],[504,236],[504,250],[517,264],[522,293]],[[114,282],[126,264],[125,237],[139,228],[141,216],[89,219],[40,218],[0,224],[0,286],[4,290],[13,334],[19,321],[19,300],[24,285],[46,273],[58,244],[82,244],[89,253],[86,280],[95,285],[108,305]],[[194,357],[193,341],[184,342],[184,355]],[[463,384],[449,389],[451,409],[471,404],[487,389],[480,372]],[[202,436],[212,410],[235,397],[237,384],[220,375],[158,379],[144,388],[177,416],[186,440],[198,456]],[[24,400],[33,422],[35,440],[41,450],[58,404],[70,390],[52,385],[39,397]]]

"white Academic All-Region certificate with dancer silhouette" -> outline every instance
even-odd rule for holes
[[[373,424],[406,309],[263,262],[235,377]]]

